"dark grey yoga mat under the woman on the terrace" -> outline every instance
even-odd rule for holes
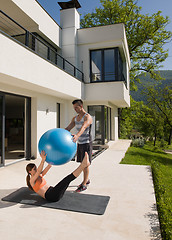
[[[22,187],[8,196],[3,201],[21,203],[27,205],[41,206],[47,208],[61,209],[74,212],[82,212],[96,215],[103,215],[109,196],[82,194],[66,191],[63,198],[58,202],[48,202],[27,187]]]

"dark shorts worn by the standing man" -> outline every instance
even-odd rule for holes
[[[82,162],[85,156],[85,152],[88,153],[89,161],[91,163],[92,160],[92,142],[77,144],[77,162]]]

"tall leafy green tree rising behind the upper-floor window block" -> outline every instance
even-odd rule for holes
[[[154,70],[159,69],[167,58],[168,51],[163,49],[171,40],[172,33],[165,30],[169,17],[163,17],[161,11],[141,14],[137,0],[100,0],[102,6],[81,19],[81,26],[94,27],[115,23],[124,23],[131,58],[130,79],[139,81],[139,74],[148,72],[151,77],[160,79]]]

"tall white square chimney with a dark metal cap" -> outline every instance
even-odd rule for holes
[[[77,0],[58,2],[60,10],[60,27],[62,28],[62,55],[74,66],[78,66],[77,30],[80,28],[80,4]]]

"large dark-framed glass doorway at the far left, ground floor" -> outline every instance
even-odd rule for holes
[[[7,93],[1,98],[1,165],[8,165],[31,155],[31,100]]]

